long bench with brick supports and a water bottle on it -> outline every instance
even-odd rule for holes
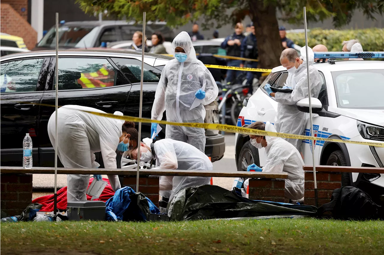
[[[0,169],[0,209],[13,216],[18,215],[31,203],[32,174],[54,174],[53,167],[1,167]],[[130,186],[136,190],[136,169],[104,169],[104,168],[57,168],[58,174],[102,174],[119,175],[122,186]],[[198,176],[198,177],[242,177],[252,178],[249,181],[249,198],[284,202],[285,179],[287,173],[270,172],[215,172],[188,170],[151,170],[141,169],[139,176],[139,192],[146,195],[158,206],[159,176]]]

